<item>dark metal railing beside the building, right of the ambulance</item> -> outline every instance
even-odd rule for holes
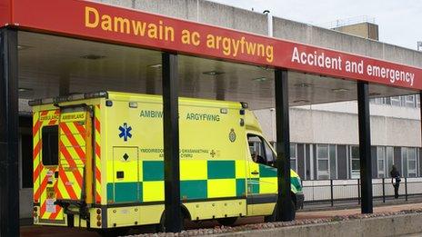
[[[320,180],[303,181],[305,203],[309,202],[334,202],[353,201],[360,202],[360,180]],[[374,198],[382,199],[394,196],[394,187],[391,178],[373,179],[372,193]],[[404,196],[406,201],[409,196],[420,195],[422,197],[422,178],[403,178],[398,193]]]

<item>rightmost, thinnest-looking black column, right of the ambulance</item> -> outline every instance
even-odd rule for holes
[[[357,82],[357,113],[359,123],[360,189],[362,213],[372,213],[371,126],[367,82]]]

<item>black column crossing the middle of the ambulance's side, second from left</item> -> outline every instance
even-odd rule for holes
[[[163,124],[166,232],[180,232],[180,172],[177,55],[163,54]]]

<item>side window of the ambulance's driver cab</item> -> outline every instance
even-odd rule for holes
[[[276,156],[273,150],[269,147],[265,140],[254,134],[247,135],[247,141],[249,143],[249,151],[252,156],[252,160],[255,163],[262,163],[265,165],[274,166],[276,163]]]

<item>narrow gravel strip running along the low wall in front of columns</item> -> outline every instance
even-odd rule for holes
[[[273,229],[278,227],[285,226],[295,226],[295,225],[305,225],[305,224],[316,224],[316,223],[327,223],[327,222],[344,222],[348,220],[357,220],[357,219],[366,219],[374,217],[384,217],[392,216],[398,214],[409,214],[409,213],[422,213],[422,208],[413,209],[413,210],[404,210],[400,212],[379,212],[371,214],[353,214],[353,215],[342,215],[342,216],[333,216],[330,218],[319,218],[319,219],[303,219],[296,220],[293,222],[265,222],[265,223],[254,223],[246,224],[240,226],[216,226],[215,228],[210,229],[196,229],[196,230],[187,230],[183,232],[159,232],[159,233],[146,233],[146,234],[137,234],[137,235],[128,235],[136,237],[174,237],[174,236],[197,236],[197,235],[210,235],[210,234],[219,234],[225,232],[245,232],[252,230],[263,230],[263,229]]]

